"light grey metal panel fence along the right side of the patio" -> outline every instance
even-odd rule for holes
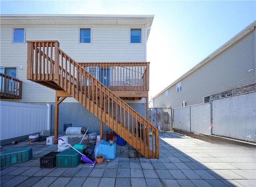
[[[256,92],[174,109],[174,128],[256,142]]]

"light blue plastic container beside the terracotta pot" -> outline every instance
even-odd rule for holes
[[[103,141],[99,146],[98,155],[104,155],[104,159],[114,160],[116,158],[116,143],[110,146],[108,141]]]

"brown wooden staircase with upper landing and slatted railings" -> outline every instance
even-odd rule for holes
[[[65,54],[58,41],[27,43],[28,80],[68,93],[144,157],[159,159],[154,125]]]

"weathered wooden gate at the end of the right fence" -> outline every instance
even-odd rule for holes
[[[171,131],[170,113],[165,112],[163,109],[165,108],[149,108],[149,121],[155,127],[160,127],[162,131]],[[170,109],[170,111],[172,111],[172,109]]]

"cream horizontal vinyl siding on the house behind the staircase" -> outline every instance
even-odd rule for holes
[[[76,62],[145,62],[144,25],[15,25],[25,27],[26,41],[58,40],[60,49]],[[142,28],[142,44],[130,44],[130,27]],[[79,44],[79,28],[91,28],[91,44]],[[16,67],[22,80],[22,100],[18,102],[55,102],[55,91],[26,79],[27,44],[12,44],[12,26],[0,27],[0,66]],[[143,99],[142,99],[143,100]],[[8,99],[8,101],[12,101]],[[17,100],[13,100],[16,101]],[[66,98],[64,102],[76,102]],[[140,101],[141,102],[141,101]]]

